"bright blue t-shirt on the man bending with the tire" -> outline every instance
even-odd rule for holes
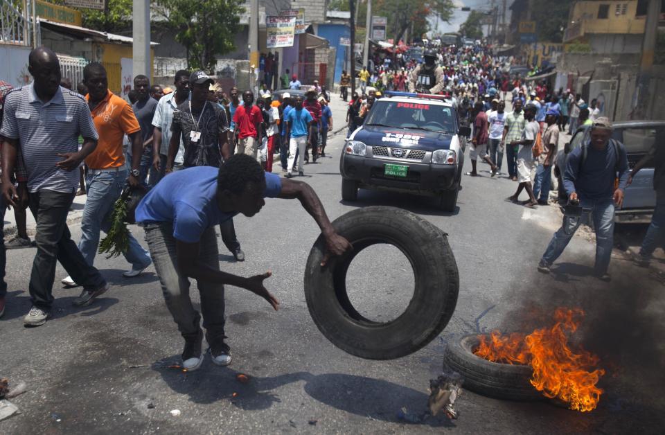
[[[164,177],[139,202],[136,222],[172,222],[173,237],[198,242],[206,229],[238,214],[222,213],[217,205],[218,172],[212,166],[197,166]],[[263,197],[274,198],[282,190],[276,174],[266,172],[265,184]]]

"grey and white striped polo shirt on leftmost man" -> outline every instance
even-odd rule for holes
[[[33,84],[11,91],[5,98],[2,136],[18,139],[28,172],[28,190],[73,193],[78,170],[59,169],[56,154],[78,152],[78,136],[98,139],[85,99],[59,87],[53,98],[42,103]]]

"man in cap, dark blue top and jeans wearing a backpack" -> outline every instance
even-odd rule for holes
[[[587,143],[568,154],[563,185],[571,202],[579,202],[582,215],[564,216],[563,224],[554,233],[543,254],[538,270],[549,273],[581,224],[592,220],[596,231],[596,264],[594,274],[610,281],[608,267],[612,256],[614,234],[614,207],[621,207],[623,190],[628,185],[628,157],[626,148],[612,137],[612,123],[608,118],[596,119]],[[614,180],[619,174],[619,187]]]

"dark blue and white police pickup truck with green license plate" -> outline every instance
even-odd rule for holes
[[[443,96],[386,94],[346,139],[342,199],[357,200],[359,188],[394,190],[437,197],[443,211],[454,211],[470,128]]]

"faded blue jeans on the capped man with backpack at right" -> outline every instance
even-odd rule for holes
[[[594,228],[596,229],[596,265],[594,269],[597,275],[602,275],[608,272],[610,257],[612,256],[614,202],[612,202],[612,199],[601,201],[582,200],[580,204],[589,211],[583,211],[580,217],[563,217],[563,224],[554,233],[554,237],[542,255],[542,260],[547,265],[554,263],[563,250],[566,249],[568,242],[570,242],[580,225],[589,222],[589,219],[593,219]]]

